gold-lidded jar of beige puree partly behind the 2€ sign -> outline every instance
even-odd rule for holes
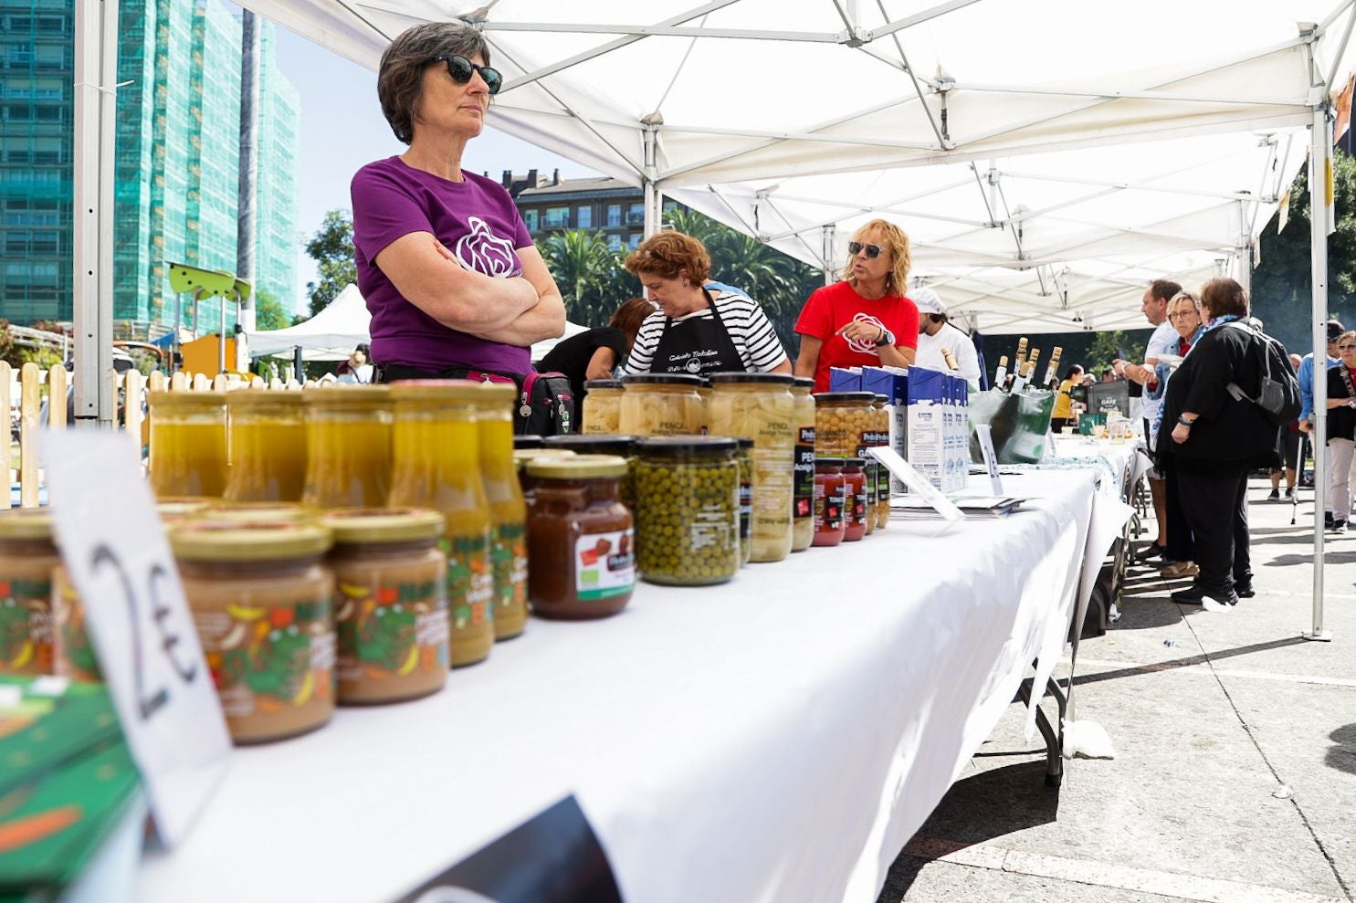
[[[183,521],[170,529],[231,739],[313,731],[335,708],[330,530],[313,523]]]

